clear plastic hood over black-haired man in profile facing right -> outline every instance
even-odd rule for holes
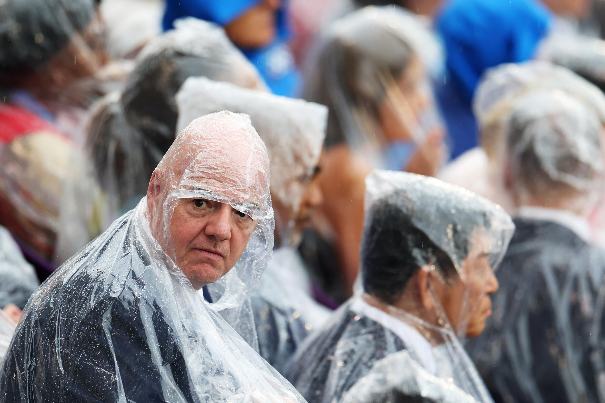
[[[486,236],[485,252],[497,268],[512,237],[514,225],[502,207],[456,185],[406,172],[374,170],[366,179],[365,205],[371,206],[397,192],[404,214],[413,225],[443,250],[464,279],[463,260],[471,249],[473,233]],[[369,218],[367,218],[369,219]],[[419,262],[419,266],[429,262]]]

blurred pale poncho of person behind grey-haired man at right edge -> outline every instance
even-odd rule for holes
[[[515,203],[503,172],[508,150],[506,119],[520,97],[538,89],[558,89],[577,98],[605,123],[605,96],[572,71],[543,61],[501,65],[485,74],[473,99],[481,147],[445,167],[439,178],[477,192],[514,214]]]

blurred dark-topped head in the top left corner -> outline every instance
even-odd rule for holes
[[[24,85],[31,73],[65,87],[106,62],[105,26],[94,0],[8,0],[0,4],[0,82]]]

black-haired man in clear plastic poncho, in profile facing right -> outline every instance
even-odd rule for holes
[[[392,376],[407,376],[410,396],[431,375],[491,401],[459,339],[480,334],[491,314],[492,269],[511,218],[474,193],[411,173],[374,171],[366,195],[363,293],[307,338],[287,377],[309,402],[340,401],[376,361],[404,351],[417,371]]]

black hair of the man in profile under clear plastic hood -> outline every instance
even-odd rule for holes
[[[394,199],[397,195],[389,195],[370,208],[361,241],[364,291],[388,304],[401,297],[413,274],[427,263],[446,277],[456,272],[448,254],[414,226]]]

